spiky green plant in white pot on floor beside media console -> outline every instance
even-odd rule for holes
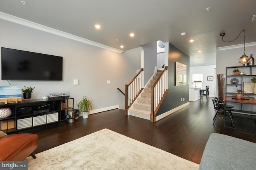
[[[92,100],[84,96],[77,104],[79,112],[82,113],[84,119],[88,118],[88,112],[92,110]]]

